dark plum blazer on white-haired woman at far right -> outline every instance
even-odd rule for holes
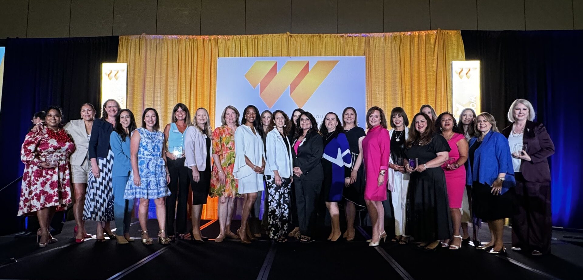
[[[512,125],[502,130],[506,138],[510,136]],[[521,161],[520,172],[528,182],[550,182],[550,168],[548,157],[554,154],[553,140],[550,139],[542,123],[526,120],[522,143],[527,144],[526,154],[531,161]]]

